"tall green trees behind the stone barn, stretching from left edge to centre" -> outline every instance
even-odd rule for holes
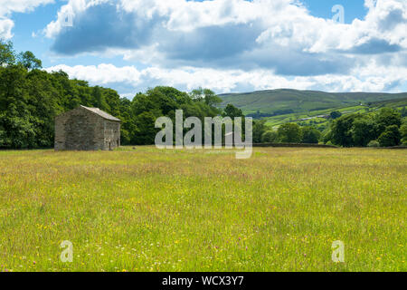
[[[175,110],[202,121],[219,115],[242,116],[241,111],[220,110],[221,102],[211,90],[180,92],[165,86],[128,100],[114,90],[70,80],[62,71],[47,73],[33,53],[15,53],[13,43],[0,41],[0,148],[51,148],[55,117],[80,105],[97,107],[120,119],[121,144],[150,145],[159,131],[156,119],[175,120]]]

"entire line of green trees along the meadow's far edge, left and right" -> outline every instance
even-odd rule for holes
[[[159,131],[156,119],[167,116],[175,121],[175,110],[183,110],[185,118],[198,117],[203,122],[205,117],[215,116],[244,119],[242,111],[232,104],[220,109],[221,102],[208,89],[181,92],[165,86],[139,92],[128,100],[112,89],[70,80],[62,71],[47,73],[33,53],[15,53],[13,43],[0,41],[0,148],[51,148],[55,117],[80,105],[97,107],[122,120],[123,145],[154,144]],[[326,131],[295,123],[274,130],[264,120],[253,121],[253,142],[322,142],[344,147],[397,146],[407,142],[407,125],[402,123],[399,111],[384,108],[345,116],[334,111],[331,119]]]

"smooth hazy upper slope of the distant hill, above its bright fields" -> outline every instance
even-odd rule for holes
[[[221,94],[222,107],[232,103],[245,114],[260,111],[263,117],[289,113],[345,108],[372,102],[401,99],[405,102],[407,92],[318,92],[280,89],[272,91]]]

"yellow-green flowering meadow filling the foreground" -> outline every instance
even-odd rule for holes
[[[406,271],[406,173],[405,150],[1,151],[0,271]]]

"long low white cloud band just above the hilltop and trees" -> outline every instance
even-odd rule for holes
[[[137,70],[134,66],[116,67],[105,63],[98,66],[72,67],[62,64],[46,70],[48,72],[62,70],[71,78],[86,80],[92,84],[109,86],[121,83],[125,89],[120,94],[126,96],[156,85],[175,86],[185,91],[204,87],[218,93],[279,88],[327,92],[383,92],[394,91],[389,88],[395,82],[404,81],[404,76],[407,75],[407,68],[378,65],[374,61],[366,67],[355,68],[351,75],[327,74],[291,78],[279,76],[267,70],[245,72],[193,67],[178,69],[148,67]]]

